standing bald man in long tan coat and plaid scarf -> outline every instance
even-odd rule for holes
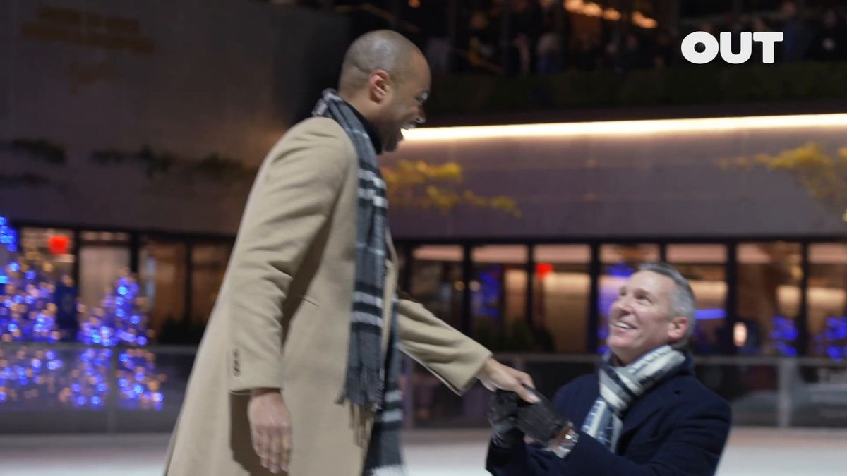
[[[424,122],[429,66],[403,36],[368,33],[339,91],[268,153],[197,351],[168,476],[402,474],[400,356],[462,393],[523,374],[417,302],[397,257],[377,157]]]

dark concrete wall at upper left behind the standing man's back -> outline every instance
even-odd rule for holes
[[[250,177],[192,182],[175,167],[149,180],[144,163],[91,152],[217,152],[250,174],[333,86],[346,25],[242,0],[0,3],[0,215],[235,233]],[[64,166],[9,147],[37,138],[64,149]]]

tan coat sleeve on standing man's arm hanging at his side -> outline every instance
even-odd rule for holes
[[[313,124],[291,135],[263,163],[230,260],[232,392],[282,385],[282,305],[351,160],[343,131]]]

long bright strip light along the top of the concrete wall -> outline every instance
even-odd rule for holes
[[[817,127],[847,127],[847,113],[433,127],[407,130],[404,132],[404,136],[410,142],[423,142],[531,137],[643,136],[645,134],[675,132],[812,129]]]

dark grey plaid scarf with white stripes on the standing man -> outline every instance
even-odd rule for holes
[[[356,282],[352,290],[346,381],[338,402],[349,400],[375,412],[363,475],[405,474],[400,453],[403,402],[399,385],[401,359],[397,346],[396,294],[388,304],[391,306],[389,351],[385,362],[382,359],[388,229],[385,181],[362,121],[335,91],[324,91],[313,115],[335,119],[341,125],[353,142],[359,164]]]

